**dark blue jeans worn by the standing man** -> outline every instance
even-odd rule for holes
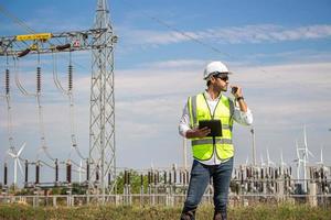
[[[233,161],[232,157],[220,165],[204,165],[196,160],[193,161],[190,186],[182,213],[191,212],[191,216],[193,213],[191,219],[194,219],[195,210],[210,183],[210,178],[213,178],[215,213],[222,213],[226,218]]]

